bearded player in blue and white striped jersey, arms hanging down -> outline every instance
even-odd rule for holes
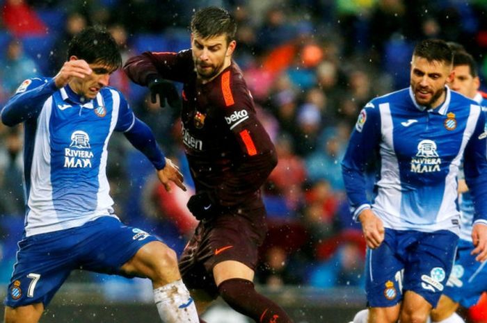
[[[449,90],[453,52],[424,40],[413,52],[410,87],[360,112],[342,162],[354,219],[367,242],[369,322],[426,322],[452,270],[460,230],[458,167],[474,199],[472,251],[487,258],[485,117],[476,101]],[[374,201],[363,175],[381,166]]]

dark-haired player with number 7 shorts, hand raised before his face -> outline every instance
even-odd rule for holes
[[[166,190],[170,181],[185,190],[152,131],[108,86],[121,65],[111,35],[86,28],[70,42],[54,78],[24,81],[1,110],[3,124],[25,129],[25,230],[5,299],[6,323],[38,322],[76,269],[149,278],[164,323],[198,322],[175,252],[113,214],[106,178],[113,131],[147,156]]]

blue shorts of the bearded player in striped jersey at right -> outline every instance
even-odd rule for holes
[[[389,307],[411,290],[436,307],[452,271],[458,236],[385,229],[377,249],[367,249],[365,290],[371,307]]]

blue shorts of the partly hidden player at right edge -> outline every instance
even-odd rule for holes
[[[472,242],[458,242],[455,264],[443,292],[467,308],[477,304],[482,292],[487,290],[487,262],[475,260],[477,255],[470,254],[473,249]]]

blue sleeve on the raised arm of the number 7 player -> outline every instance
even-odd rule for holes
[[[15,126],[26,120],[35,119],[45,101],[57,90],[54,78],[26,79],[1,110],[1,122],[6,126]]]

